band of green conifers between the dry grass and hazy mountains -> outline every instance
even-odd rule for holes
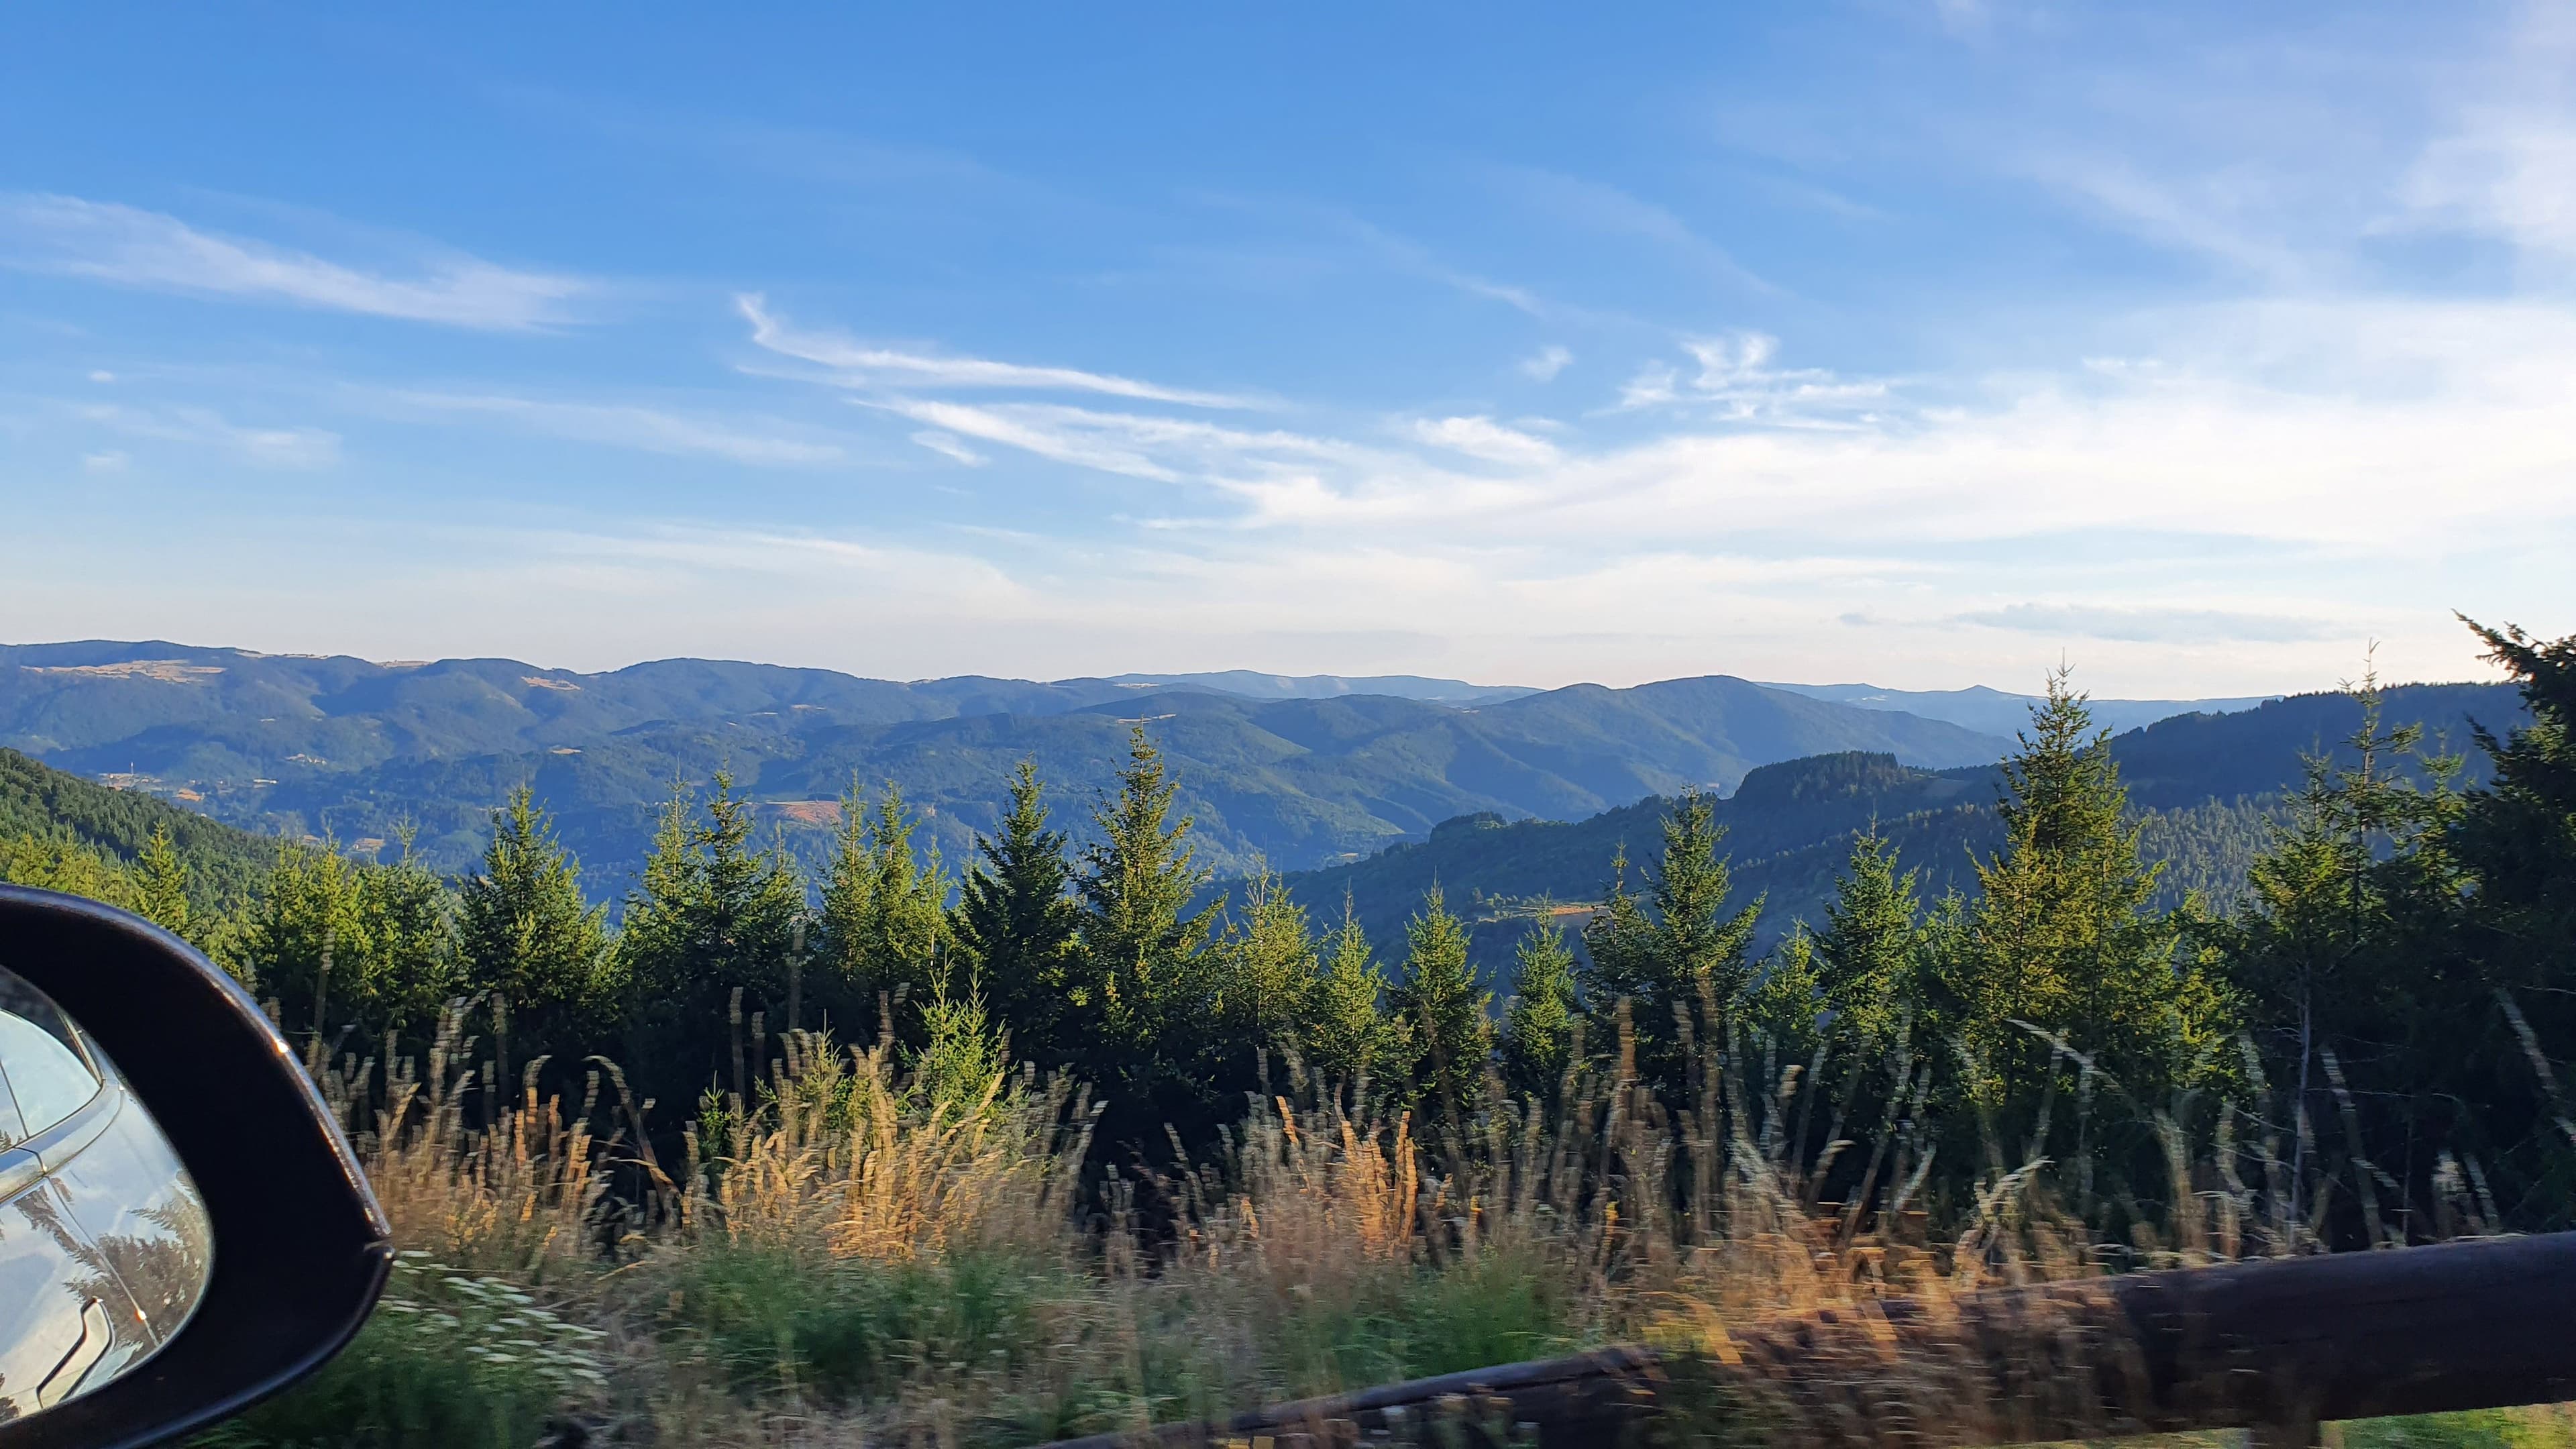
[[[2084,1214],[2136,1212],[2166,1189],[2159,1127],[2228,1116],[2298,1168],[2336,1163],[2300,1204],[2334,1232],[2424,1235],[2460,1212],[2543,1227],[2568,1220],[2576,1165],[2550,1060],[2576,1042],[2576,642],[2481,639],[2527,724],[2481,727],[2473,763],[2388,724],[2365,683],[2354,735],[2264,804],[2136,810],[2063,678],[1991,810],[1883,755],[1757,771],[1757,799],[1929,781],[1935,810],[1883,828],[1870,794],[1829,856],[1754,864],[1772,890],[1803,871],[1783,892],[1811,902],[1795,920],[1731,861],[1741,799],[1705,794],[1656,804],[1651,841],[1597,859],[1579,913],[1520,902],[1473,923],[1432,877],[1388,931],[1267,871],[1211,890],[1144,724],[1079,848],[1030,763],[963,861],[917,848],[899,792],[853,786],[817,879],[726,773],[675,786],[616,913],[528,789],[492,817],[482,866],[440,877],[410,853],[260,846],[15,761],[0,869],[204,944],[299,1039],[392,1062],[464,1003],[500,1080],[608,1060],[665,1129],[744,1111],[796,1031],[1079,1080],[1105,1104],[1105,1163],[1206,1145],[1247,1093],[1291,1085],[1466,1140],[1499,1101],[1548,1101],[1610,1055],[1682,1109],[1703,1039],[1741,1070],[1837,1083],[1834,1119],[1798,1127],[1814,1152],[1904,1122],[1917,1201],[1971,1191],[2009,1145],[2084,1160]],[[2192,828],[2218,843],[2151,848]],[[2151,864],[2228,851],[2228,902]],[[1924,856],[1950,864],[1904,864]],[[1502,980],[1471,964],[1471,926],[1502,936]],[[1880,1165],[1842,1171],[1837,1194],[1904,1201]]]

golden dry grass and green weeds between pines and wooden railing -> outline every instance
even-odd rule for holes
[[[933,1083],[889,1044],[791,1034],[757,1101],[711,1098],[667,1168],[611,1070],[577,1109],[538,1101],[533,1067],[505,1098],[451,1013],[420,1070],[312,1062],[415,1276],[451,1302],[397,1284],[399,1312],[227,1441],[410,1413],[417,1428],[371,1421],[374,1441],[523,1446],[549,1415],[577,1415],[665,1444],[1028,1444],[1602,1341],[1734,1359],[1759,1351],[1749,1325],[1819,1310],[1883,1323],[1852,1310],[1888,1294],[1924,1305],[1929,1330],[1901,1354],[1852,1336],[1839,1397],[1770,1405],[1777,1423],[2022,1421],[2027,1405],[1971,1403],[1989,1379],[1965,1351],[1922,1346],[1971,1338],[1955,1305],[1973,1289],[2099,1274],[2038,1163],[1991,1171],[1935,1235],[1911,1127],[1821,1163],[1790,1150],[1839,1122],[1808,1088],[1819,1062],[1703,1052],[1672,1111],[1625,1060],[1569,1078],[1548,1119],[1497,1088],[1468,1140],[1425,1142],[1401,1111],[1309,1091],[1249,1104],[1218,1152],[1170,1178],[1084,1183],[1095,1109],[1072,1085],[999,1070]],[[1747,1062],[1765,1088],[1747,1088]],[[2236,1116],[2221,1132],[2259,1137]],[[2303,1245],[2285,1194],[2259,1181],[2277,1155],[2195,1163],[2179,1129],[2172,1145],[2190,1209],[2146,1243],[2151,1261]],[[1834,1160],[1834,1181],[1865,1165],[1847,1204],[1819,1201]],[[1162,1204],[1154,1227],[1139,1201]],[[489,1364],[489,1343],[459,1338],[459,1292],[520,1294],[513,1312],[541,1315],[569,1366]],[[2110,1351],[2061,1343],[2030,1392]],[[464,1408],[422,1408],[440,1395]]]

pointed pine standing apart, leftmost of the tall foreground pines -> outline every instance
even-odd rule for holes
[[[492,812],[482,871],[456,910],[461,987],[495,998],[502,1062],[580,1052],[608,1011],[608,908],[582,900],[582,866],[526,784]]]

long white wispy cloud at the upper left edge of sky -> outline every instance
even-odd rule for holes
[[[363,271],[160,211],[31,193],[0,193],[0,266],[502,333],[572,322],[569,302],[592,291],[582,278],[456,255],[428,258],[410,276]]]

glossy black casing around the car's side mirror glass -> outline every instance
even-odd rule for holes
[[[340,1124],[250,993],[142,918],[10,884],[0,967],[106,1049],[214,1227],[214,1274],[188,1325],[124,1377],[0,1423],[0,1449],[160,1444],[337,1354],[384,1289],[392,1232]]]

